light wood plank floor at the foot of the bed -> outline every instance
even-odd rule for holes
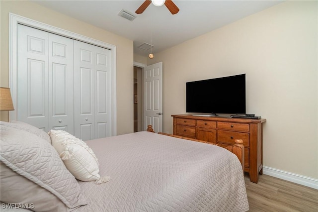
[[[318,212],[318,190],[260,175],[252,183],[245,173],[249,212]]]

